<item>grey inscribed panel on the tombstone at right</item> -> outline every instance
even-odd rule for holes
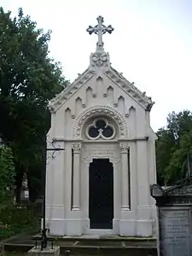
[[[160,207],[160,256],[192,256],[190,208]]]

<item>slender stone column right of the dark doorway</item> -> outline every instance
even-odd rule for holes
[[[121,210],[127,211],[130,210],[130,201],[129,201],[129,173],[128,173],[128,143],[120,143],[121,148],[121,177],[122,177],[122,201],[121,201]]]

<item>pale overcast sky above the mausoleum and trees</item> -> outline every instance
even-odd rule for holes
[[[89,65],[96,35],[86,28],[102,15],[112,66],[155,102],[154,131],[172,111],[192,110],[192,0],[0,0],[13,15],[22,7],[39,28],[52,30],[50,55],[71,82]]]

